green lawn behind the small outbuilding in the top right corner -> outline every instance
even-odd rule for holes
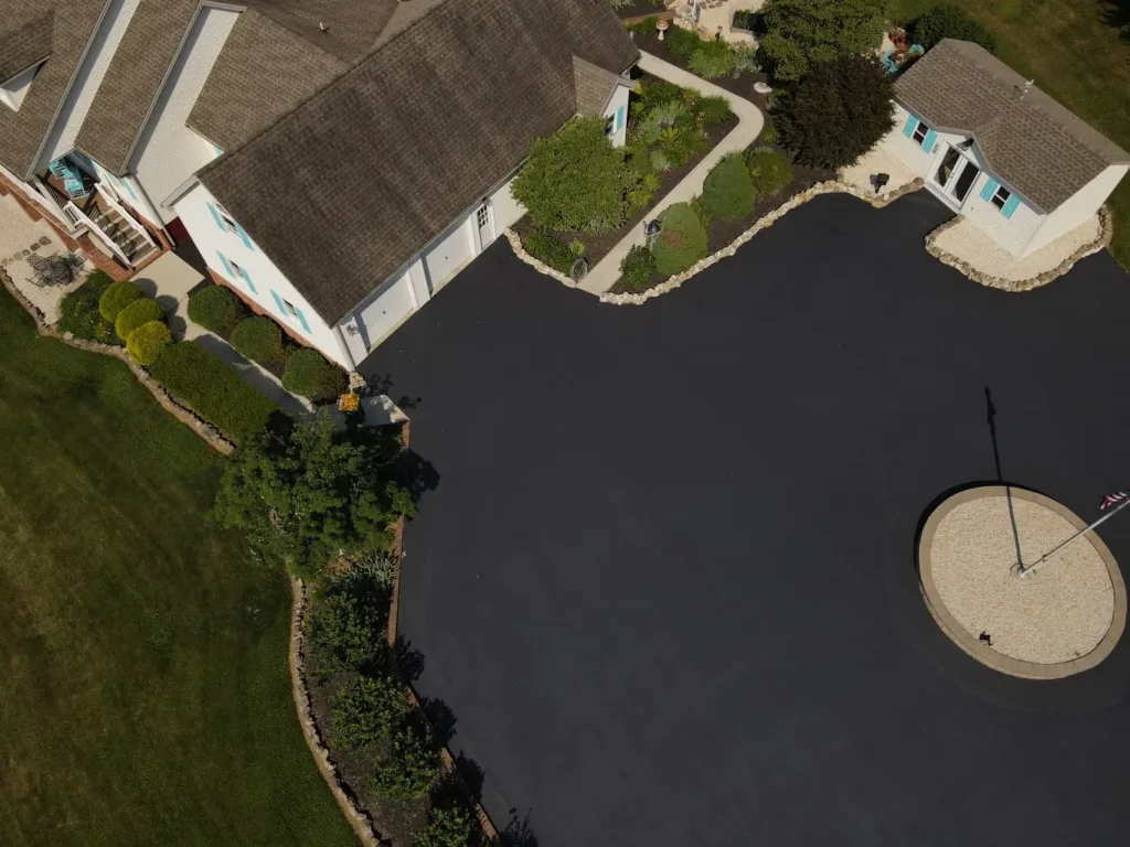
[[[1112,23],[1124,0],[950,0],[997,36],[997,55],[1130,150],[1130,43]],[[906,23],[935,0],[893,0]],[[1123,11],[1122,17],[1127,14]],[[1130,270],[1130,178],[1111,199],[1111,252]]]

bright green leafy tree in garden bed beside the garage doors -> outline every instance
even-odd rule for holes
[[[530,145],[514,177],[514,199],[545,229],[615,229],[627,215],[627,193],[640,175],[605,137],[605,119],[577,117]]]

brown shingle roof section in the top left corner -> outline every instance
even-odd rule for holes
[[[105,6],[106,0],[0,0],[0,26],[9,33],[28,27],[32,20],[46,26],[53,10],[51,55],[35,75],[19,111],[0,106],[0,161],[17,176],[28,176],[35,167],[35,158]],[[42,42],[42,30],[31,26],[28,32],[34,32],[36,44]],[[32,52],[40,52],[38,46]]]

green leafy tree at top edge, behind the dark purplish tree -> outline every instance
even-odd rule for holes
[[[773,76],[794,81],[811,64],[879,46],[886,0],[768,0],[762,51]]]

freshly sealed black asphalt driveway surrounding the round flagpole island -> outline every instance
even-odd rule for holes
[[[1007,481],[1130,483],[1130,277],[931,259],[932,199],[818,199],[643,307],[496,244],[366,364],[438,473],[400,625],[496,822],[542,847],[1125,845],[1130,638],[1027,682],[919,597],[915,532]],[[1109,527],[1109,529],[1107,529]],[[1130,566],[1130,516],[1102,535]]]

